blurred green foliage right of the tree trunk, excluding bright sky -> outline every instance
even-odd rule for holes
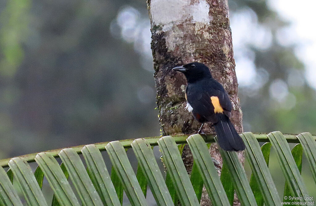
[[[308,86],[304,77],[304,64],[295,56],[295,47],[300,40],[289,46],[280,44],[277,32],[289,26],[290,22],[281,19],[268,3],[265,0],[229,1],[230,13],[234,15],[242,9],[250,9],[255,12],[258,24],[272,34],[272,43],[267,48],[246,46],[254,54],[258,78],[254,78],[250,86],[239,87],[244,131],[279,130],[292,134],[308,131],[316,134],[316,91]],[[232,33],[234,43],[234,30]],[[267,81],[260,87],[256,86],[262,83],[263,76],[267,76]],[[273,86],[272,83],[276,84]],[[279,99],[271,97],[273,91],[281,93],[278,86],[282,86],[282,83],[285,83],[287,96],[281,98],[279,95]]]

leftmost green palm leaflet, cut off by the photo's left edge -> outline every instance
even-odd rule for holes
[[[11,180],[2,167],[0,167],[0,203],[1,205],[22,206],[21,200],[14,190]]]

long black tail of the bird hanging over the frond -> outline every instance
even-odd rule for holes
[[[245,144],[232,122],[225,114],[216,114],[218,122],[214,124],[219,146],[226,151],[241,151]]]

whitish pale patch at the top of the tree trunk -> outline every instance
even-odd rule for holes
[[[155,25],[167,25],[192,19],[193,22],[210,23],[210,4],[205,0],[191,4],[191,0],[178,0],[170,3],[169,0],[151,0],[150,12]]]

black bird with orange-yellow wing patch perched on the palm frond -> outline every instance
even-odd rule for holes
[[[241,151],[245,144],[230,122],[232,103],[227,91],[213,79],[211,72],[203,63],[192,62],[177,66],[173,71],[182,72],[187,80],[185,99],[186,109],[202,123],[214,124],[219,145],[226,151]],[[198,133],[200,133],[201,128]]]

